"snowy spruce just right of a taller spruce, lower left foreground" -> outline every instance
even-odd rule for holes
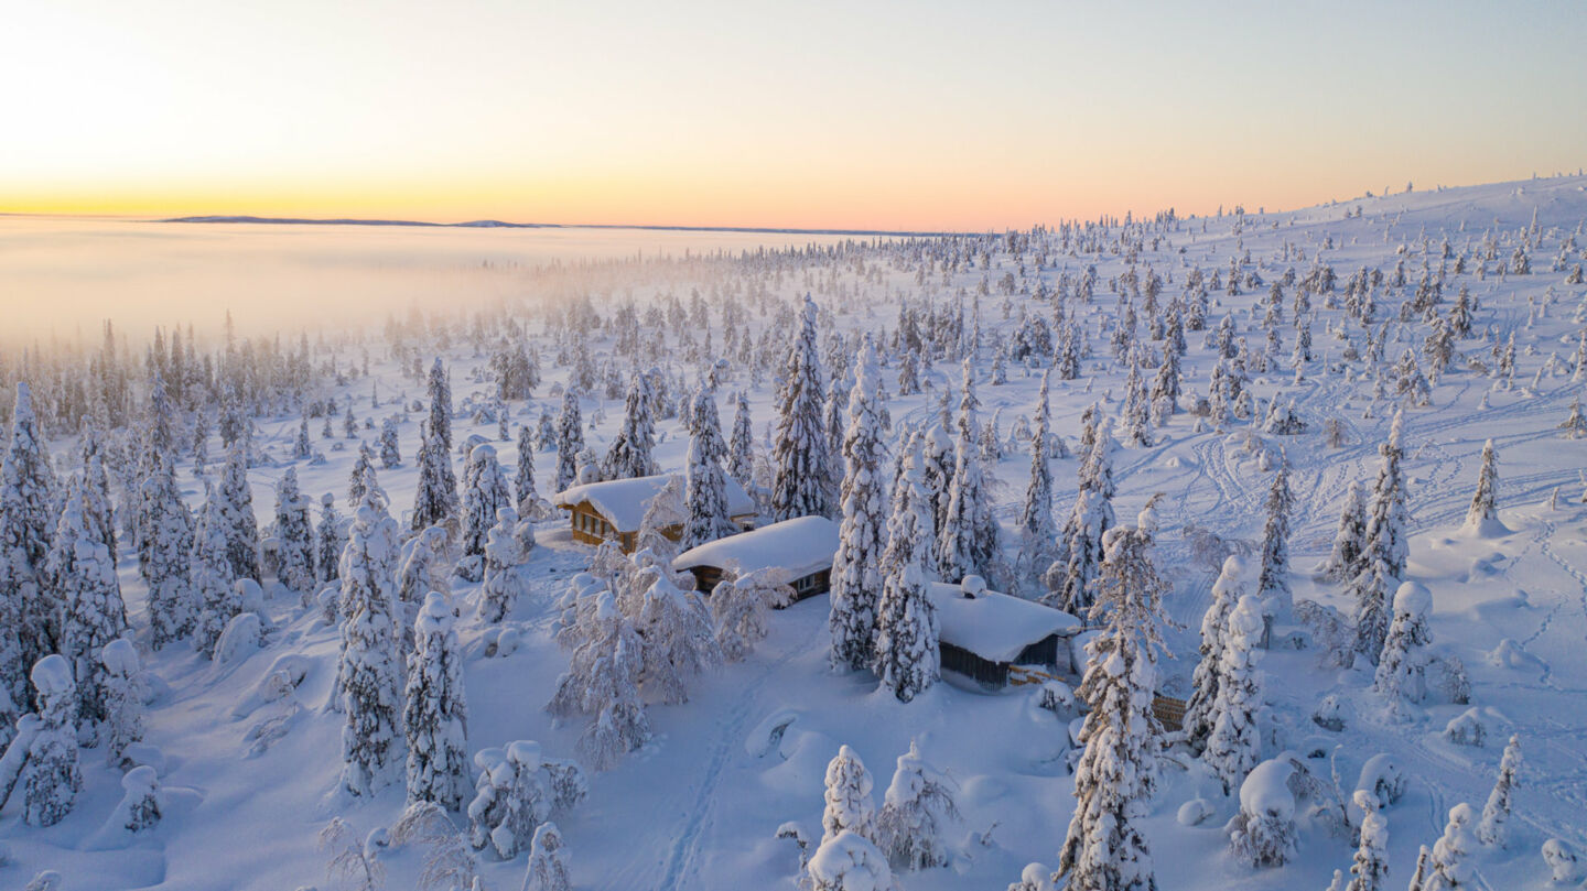
[[[408,801],[448,810],[468,793],[468,701],[452,609],[430,591],[414,621],[403,731],[408,734]]]

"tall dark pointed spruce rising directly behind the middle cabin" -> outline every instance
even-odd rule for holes
[[[816,301],[805,296],[800,335],[778,393],[778,428],[771,449],[771,518],[827,517],[828,455],[820,419],[822,369],[816,354]]]

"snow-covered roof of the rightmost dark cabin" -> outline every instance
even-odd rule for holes
[[[1013,661],[1047,634],[1068,637],[1081,629],[1081,620],[1060,609],[1000,591],[966,598],[959,585],[932,582],[925,593],[936,607],[941,641],[995,663]]]

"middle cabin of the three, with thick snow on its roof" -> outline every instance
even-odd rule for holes
[[[795,517],[690,547],[673,560],[673,569],[694,572],[698,590],[709,593],[732,569],[786,569],[794,599],[825,593],[832,587],[832,558],[838,553],[838,523],[825,517]]]

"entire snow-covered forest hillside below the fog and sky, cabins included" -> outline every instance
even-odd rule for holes
[[[8,350],[0,888],[1576,886],[1584,265],[1577,174]]]

